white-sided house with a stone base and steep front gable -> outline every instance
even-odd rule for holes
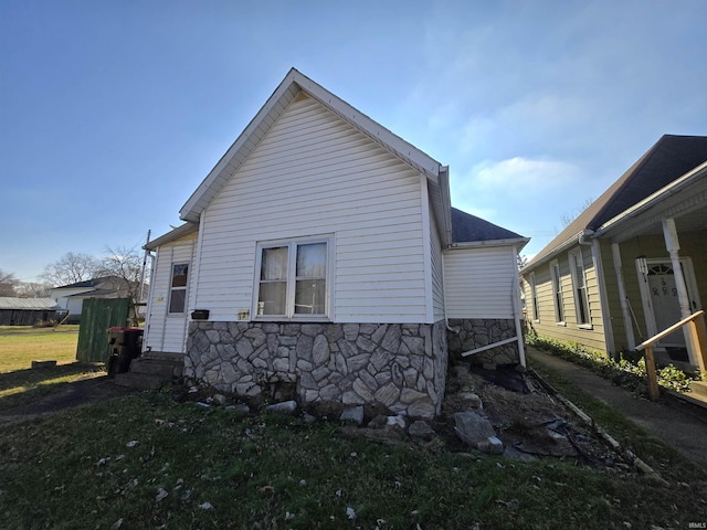
[[[447,344],[524,362],[528,240],[452,209],[447,167],[294,68],[180,216],[146,246],[144,344],[190,379],[431,417]]]

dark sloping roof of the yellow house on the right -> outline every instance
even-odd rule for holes
[[[547,244],[527,266],[564,248],[584,231],[595,231],[643,199],[707,160],[707,137],[663,135],[619,180]]]

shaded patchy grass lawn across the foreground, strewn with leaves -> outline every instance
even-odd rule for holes
[[[550,460],[382,445],[334,423],[143,393],[7,426],[8,528],[687,528],[705,476],[663,486]],[[689,486],[688,486],[689,481]],[[118,522],[119,521],[119,522]]]

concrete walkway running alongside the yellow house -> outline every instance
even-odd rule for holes
[[[535,348],[527,348],[526,357],[528,368],[545,364],[557,370],[587,393],[707,469],[707,410],[676,398],[664,398],[657,402],[637,398],[585,368]]]

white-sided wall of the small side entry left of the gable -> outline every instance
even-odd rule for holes
[[[160,246],[155,258],[155,273],[150,285],[150,310],[146,322],[144,348],[152,351],[183,353],[186,346],[188,309],[183,314],[169,315],[169,292],[172,265],[189,264],[187,286],[187,308],[192,307],[193,295],[193,254],[197,234]]]

